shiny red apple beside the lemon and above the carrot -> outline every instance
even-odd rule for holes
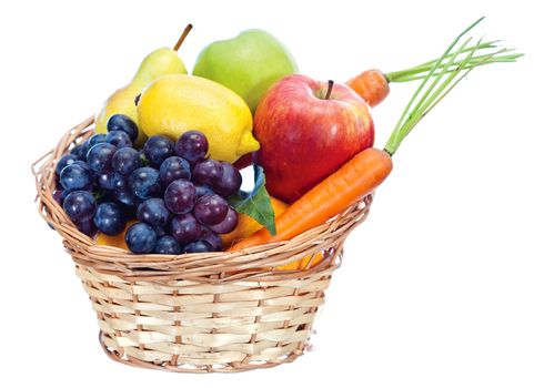
[[[255,154],[271,195],[294,202],[356,153],[373,145],[366,103],[349,86],[289,75],[254,114]]]

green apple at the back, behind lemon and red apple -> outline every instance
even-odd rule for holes
[[[194,75],[222,83],[241,95],[252,112],[274,82],[296,72],[288,49],[272,34],[258,29],[209,44],[193,69]]]

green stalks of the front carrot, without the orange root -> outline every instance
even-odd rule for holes
[[[404,137],[413,130],[413,127],[441,101],[447,95],[456,84],[477,67],[495,63],[495,62],[513,62],[522,54],[513,54],[513,60],[502,60],[505,52],[511,49],[501,49],[482,55],[475,55],[481,50],[495,49],[495,42],[482,42],[468,45],[471,38],[466,39],[457,49],[455,49],[460,39],[471,29],[482,21],[483,18],[471,24],[449,45],[445,52],[435,61],[424,63],[424,75],[420,72],[419,78],[423,79],[406,108],[401,114],[393,133],[387,141],[384,151],[393,155],[401,145]],[[466,54],[460,59],[462,54]],[[501,59],[501,60],[500,60]],[[414,71],[414,74],[417,72]],[[429,81],[432,82],[429,83]]]

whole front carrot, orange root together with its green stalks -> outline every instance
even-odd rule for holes
[[[473,69],[492,62],[495,55],[502,53],[503,50],[498,50],[474,62],[474,58],[480,58],[474,54],[481,50],[482,43],[478,42],[478,44],[466,50],[471,42],[470,38],[453,51],[460,39],[482,19],[464,30],[429,70],[401,114],[384,150],[367,149],[362,151],[340,170],[296,200],[284,213],[276,217],[276,235],[271,236],[266,228],[262,228],[239,242],[229,251],[241,251],[260,244],[290,239],[325,223],[372,193],[392,171],[391,156],[421,119]],[[466,53],[466,55],[461,59],[462,53]],[[431,79],[432,82],[430,82]]]

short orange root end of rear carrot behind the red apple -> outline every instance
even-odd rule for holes
[[[345,84],[354,90],[369,106],[380,104],[390,94],[390,83],[380,70],[366,70]]]

